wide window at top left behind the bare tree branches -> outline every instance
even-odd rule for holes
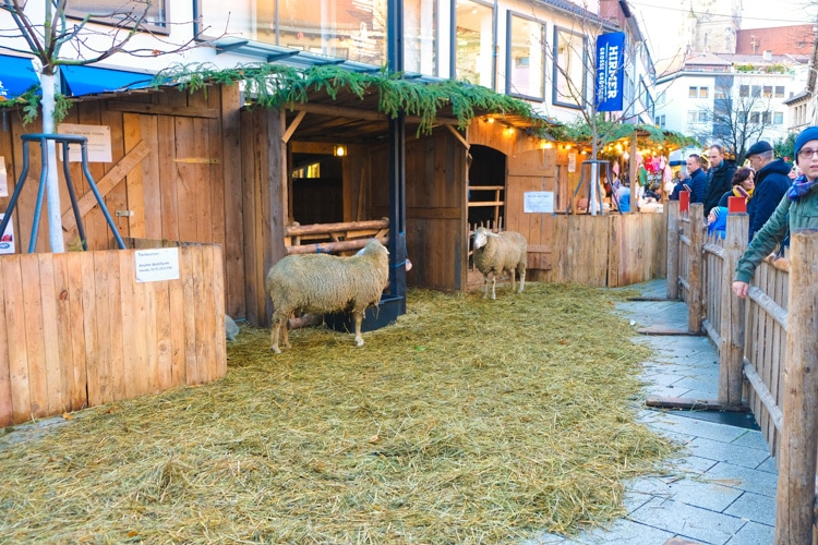
[[[70,17],[84,19],[89,13],[99,13],[99,16],[92,20],[133,28],[135,20],[144,13],[142,26],[153,32],[168,34],[168,3],[167,0],[156,0],[151,3],[135,0],[69,0],[65,14]],[[145,11],[146,8],[147,11]]]

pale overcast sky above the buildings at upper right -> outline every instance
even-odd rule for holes
[[[681,21],[689,12],[689,1],[630,0],[630,9],[637,14],[639,27],[648,37],[654,61],[675,53],[679,44],[674,38]],[[742,28],[768,28],[771,26],[801,25],[816,21],[818,0],[744,0]],[[729,15],[730,13],[725,13]]]

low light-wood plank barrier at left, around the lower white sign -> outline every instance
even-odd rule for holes
[[[0,425],[225,375],[221,247],[180,247],[178,280],[136,282],[134,256],[0,256]]]

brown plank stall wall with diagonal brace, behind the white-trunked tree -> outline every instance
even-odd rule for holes
[[[62,121],[110,128],[112,161],[92,162],[89,171],[123,238],[182,240],[225,247],[226,308],[234,317],[245,314],[240,106],[238,86],[216,86],[193,95],[176,89],[151,90],[87,97],[75,102]],[[0,132],[0,156],[5,160],[11,193],[22,169],[20,135],[41,132],[41,122],[23,125],[22,113],[13,110],[8,113],[8,121]],[[39,144],[28,147],[29,172],[13,217],[19,252],[28,249],[40,178]],[[61,162],[58,171],[63,226],[68,228],[65,244],[76,250],[81,241],[73,227]],[[116,247],[81,165],[70,164],[70,172],[81,203],[87,203],[83,225],[88,247]],[[5,209],[8,203],[9,197],[0,197],[0,209]],[[228,237],[230,244],[226,244]],[[49,251],[44,206],[36,252]]]

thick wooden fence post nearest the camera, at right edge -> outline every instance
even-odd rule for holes
[[[813,543],[818,453],[818,231],[791,237],[775,545]]]

